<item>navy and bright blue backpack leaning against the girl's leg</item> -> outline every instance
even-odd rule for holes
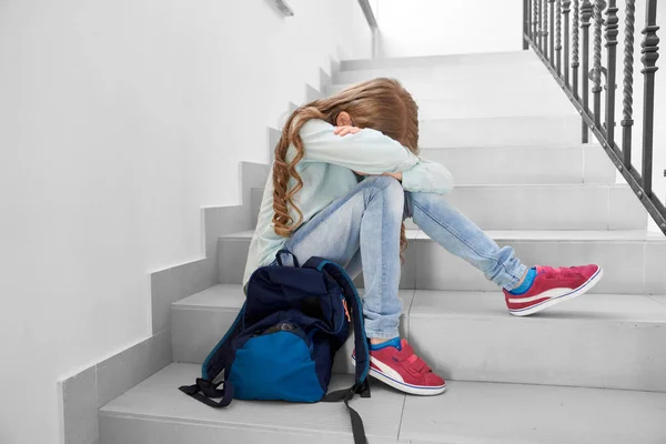
[[[291,254],[294,266],[283,266],[282,254]],[[286,250],[278,252],[276,260],[278,265],[252,274],[245,303],[204,361],[201,377],[180,390],[212,407],[225,407],[234,397],[343,401],[354,443],[365,444],[363,421],[349,405],[356,393],[370,397],[370,351],[359,293],[345,271],[331,261],[311,258],[300,268]],[[352,323],[354,384],[326,395],[333,357],[347,340]]]

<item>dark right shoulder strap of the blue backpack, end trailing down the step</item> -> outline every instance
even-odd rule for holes
[[[363,324],[363,305],[361,303],[361,297],[359,296],[359,292],[356,291],[356,287],[354,286],[354,283],[349,274],[346,274],[344,269],[336,263],[322,258],[310,258],[303,268],[316,269],[329,274],[342,287],[344,297],[347,304],[352,307],[352,316],[354,322],[354,347],[356,357],[354,385],[349,389],[331,392],[326,394],[322,401],[343,401],[344,405],[350,412],[354,444],[367,444],[363,420],[361,418],[359,412],[350,406],[350,401],[357,393],[361,394],[361,397],[370,397],[370,383],[367,379],[367,373],[370,372],[370,347],[367,345],[365,326]]]

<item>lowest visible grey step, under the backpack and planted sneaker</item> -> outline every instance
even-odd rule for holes
[[[100,444],[353,442],[341,403],[234,401],[221,412],[178,391],[199,374],[198,365],[171,364],[104,405]],[[351,382],[335,375],[330,389]],[[443,395],[418,397],[374,383],[372,397],[352,405],[373,444],[657,444],[666,436],[663,393],[450,382]]]

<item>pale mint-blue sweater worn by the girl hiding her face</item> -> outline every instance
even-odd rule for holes
[[[372,129],[363,129],[356,134],[340,137],[333,133],[334,127],[323,120],[310,120],[301,129],[304,157],[296,165],[303,179],[303,189],[294,195],[294,202],[303,212],[303,223],[335,199],[349,194],[357,180],[353,171],[366,174],[402,172],[402,184],[406,191],[422,191],[444,194],[453,189],[453,178],[444,165],[420,159],[408,149]],[[295,155],[291,145],[287,160]],[[290,180],[290,188],[295,180]],[[297,220],[293,209],[290,215]],[[256,230],[250,244],[243,285],[254,270],[268,265],[275,259],[286,238],[279,236],[272,226],[273,220],[273,170],[264,189]]]

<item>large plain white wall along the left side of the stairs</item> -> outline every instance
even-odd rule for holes
[[[200,209],[331,57],[356,0],[0,2],[0,442],[58,443],[57,380],[148,336],[149,273],[203,254]]]

